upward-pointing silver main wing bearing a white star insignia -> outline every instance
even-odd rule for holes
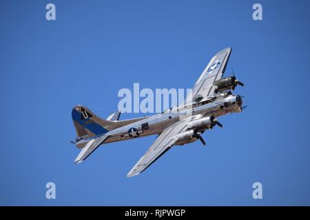
[[[203,71],[203,74],[196,81],[192,93],[189,93],[186,98],[187,103],[192,103],[192,100],[197,96],[214,95],[214,81],[220,80],[223,77],[229,56],[231,54],[231,47],[221,50],[216,54]]]

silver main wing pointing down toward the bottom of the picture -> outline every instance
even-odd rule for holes
[[[134,165],[132,170],[130,170],[127,177],[133,177],[143,172],[143,170],[153,164],[156,159],[166,153],[169,148],[171,148],[178,141],[174,136],[178,133],[186,131],[189,128],[189,122],[196,118],[198,118],[198,116],[186,118],[185,120],[176,122],[175,124],[172,124],[164,129],[161,135],[157,137],[152,146],[150,146],[147,150],[145,155],[143,155],[143,157],[138,160],[136,165]]]

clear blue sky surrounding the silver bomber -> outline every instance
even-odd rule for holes
[[[310,205],[309,1],[2,1],[1,205]],[[121,88],[191,88],[225,47],[249,107],[134,178],[155,137],[74,165],[71,109],[103,118]],[[121,119],[141,114],[122,115]],[[56,184],[56,200],[45,184]],[[263,199],[252,198],[260,181]]]

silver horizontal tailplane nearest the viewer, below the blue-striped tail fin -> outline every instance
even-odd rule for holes
[[[96,150],[97,147],[99,147],[105,139],[107,139],[109,135],[101,135],[99,137],[95,137],[94,139],[90,140],[87,142],[84,148],[82,148],[81,152],[79,155],[76,157],[74,160],[74,163],[79,164],[81,163],[84,159],[86,159],[94,150]]]

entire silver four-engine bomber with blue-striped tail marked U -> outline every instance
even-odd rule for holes
[[[197,140],[205,145],[201,134],[216,125],[222,127],[223,125],[217,120],[219,116],[238,113],[245,108],[242,107],[242,98],[231,94],[236,85],[243,86],[243,84],[234,74],[223,78],[230,54],[229,47],[211,58],[184,104],[163,113],[144,118],[118,120],[121,113],[116,111],[103,120],[87,107],[81,105],[74,107],[72,120],[77,137],[72,143],[81,148],[81,153],[74,162],[82,162],[101,144],[158,135],[149,150],[127,174],[127,177],[132,177],[143,172],[172,146]]]

